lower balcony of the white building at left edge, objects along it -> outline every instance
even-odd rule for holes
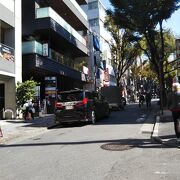
[[[15,74],[14,49],[0,43],[0,71]]]

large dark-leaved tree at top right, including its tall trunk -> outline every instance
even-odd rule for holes
[[[149,59],[157,72],[161,108],[165,105],[165,81],[163,65],[165,61],[165,44],[163,21],[179,8],[179,0],[110,0],[114,10],[108,10],[117,25],[134,32],[134,40],[145,38],[150,52]],[[157,41],[158,40],[158,41]]]

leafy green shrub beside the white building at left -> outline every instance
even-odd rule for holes
[[[17,103],[18,109],[20,109],[27,100],[34,99],[34,96],[36,93],[35,87],[37,85],[39,85],[39,83],[32,79],[24,81],[22,83],[20,83],[20,82],[17,83],[16,103]]]

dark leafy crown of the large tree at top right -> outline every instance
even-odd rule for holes
[[[139,34],[155,29],[157,24],[168,19],[179,8],[179,0],[110,0],[116,24]]]

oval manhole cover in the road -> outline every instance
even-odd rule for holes
[[[101,146],[102,149],[109,150],[109,151],[125,151],[134,148],[134,145],[130,144],[120,144],[120,143],[109,143],[103,144]]]

